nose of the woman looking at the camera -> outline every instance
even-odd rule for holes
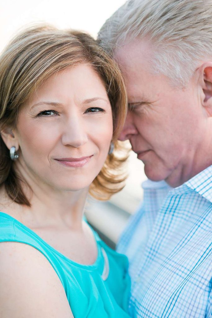
[[[72,116],[64,125],[62,143],[78,148],[88,141],[86,125],[79,116]]]

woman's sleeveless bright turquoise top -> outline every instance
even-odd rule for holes
[[[0,212],[0,242],[31,245],[48,259],[63,284],[75,318],[129,318],[127,257],[113,251],[93,233],[98,257],[94,264],[82,265],[55,250],[15,218]]]

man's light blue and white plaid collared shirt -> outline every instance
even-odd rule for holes
[[[123,233],[132,317],[212,317],[212,166],[178,188],[143,183],[144,199]]]

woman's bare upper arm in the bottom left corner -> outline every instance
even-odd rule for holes
[[[58,275],[30,245],[0,243],[0,317],[73,318]]]

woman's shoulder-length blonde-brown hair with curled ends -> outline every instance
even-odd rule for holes
[[[90,186],[90,194],[104,200],[121,190],[126,179],[123,164],[127,153],[117,136],[126,118],[127,97],[118,67],[90,35],[45,25],[31,27],[9,43],[0,56],[0,131],[16,127],[20,107],[44,80],[77,64],[92,65],[106,86],[112,107],[114,152]],[[21,180],[0,136],[0,186],[4,185],[14,202],[30,206]]]

